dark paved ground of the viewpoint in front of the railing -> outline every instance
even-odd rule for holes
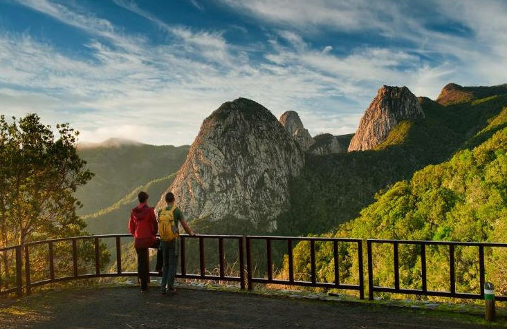
[[[38,292],[0,302],[2,328],[483,328],[478,317],[349,303],[135,287]]]

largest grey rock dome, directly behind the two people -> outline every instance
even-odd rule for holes
[[[204,120],[168,191],[187,218],[268,220],[275,229],[274,218],[289,207],[288,181],[303,166],[302,147],[277,118],[239,98]]]

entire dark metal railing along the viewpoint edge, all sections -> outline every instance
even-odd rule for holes
[[[100,263],[100,239],[102,238],[113,238],[115,240],[115,247],[113,250],[116,251],[116,271],[115,272],[102,272],[101,271],[101,263]],[[15,269],[4,269],[4,272],[12,272],[15,273],[15,279],[12,278],[13,283],[15,281],[15,286],[10,284],[9,286],[3,286],[3,283],[0,281],[0,296],[4,296],[7,294],[16,294],[17,296],[21,296],[26,291],[27,294],[30,294],[31,289],[35,286],[45,285],[48,283],[55,283],[60,281],[68,281],[75,279],[90,279],[90,278],[103,278],[103,277],[118,277],[118,276],[137,276],[137,272],[124,272],[122,270],[122,238],[131,238],[130,234],[104,234],[104,235],[95,235],[95,236],[75,236],[71,238],[57,238],[53,240],[47,241],[36,241],[31,243],[26,243],[24,245],[24,250],[22,250],[21,245],[14,245],[10,247],[0,248],[0,253],[4,254],[10,252],[11,258],[15,261],[12,261],[12,265],[15,264]],[[199,270],[197,273],[188,273],[187,272],[187,250],[185,247],[185,241],[189,241],[190,239],[196,239],[199,243]],[[219,267],[218,267],[218,275],[211,274],[206,271],[205,267],[205,250],[206,250],[206,241],[217,240],[218,241],[218,250],[217,254],[219,255]],[[80,274],[78,271],[78,261],[79,254],[77,249],[78,241],[89,241],[91,244],[91,249],[95,254],[94,265],[92,265],[93,272]],[[234,254],[238,257],[239,261],[239,275],[232,276],[226,272],[226,261],[225,261],[225,241],[237,241],[237,249],[234,249]],[[254,264],[252,263],[252,241],[261,241],[261,243],[266,244],[266,254],[265,258],[262,258],[266,261],[266,276],[260,277],[255,276]],[[273,241],[282,241],[282,243],[286,243],[286,252],[287,252],[287,267],[288,267],[288,279],[280,279],[274,277],[273,271],[273,257],[272,257],[272,242]],[[309,281],[303,281],[295,278],[294,273],[294,259],[293,259],[293,248],[296,243],[301,241],[307,241],[309,243],[309,254],[310,254],[310,274]],[[55,269],[55,244],[61,242],[70,242],[71,243],[71,258],[72,264],[68,264],[69,269],[71,269],[71,274],[64,276],[57,276]],[[367,263],[363,263],[363,241],[357,238],[324,238],[324,237],[299,237],[299,236],[240,236],[240,235],[198,235],[198,236],[188,236],[181,235],[180,236],[180,261],[181,261],[181,271],[176,274],[177,278],[182,279],[196,279],[196,280],[216,280],[216,281],[232,281],[238,282],[241,286],[241,289],[252,290],[254,283],[264,283],[264,284],[276,284],[276,285],[294,285],[294,286],[304,286],[304,287],[318,287],[318,288],[335,288],[342,290],[355,290],[358,291],[360,299],[364,298],[365,294],[365,285],[364,281],[364,273],[363,268],[366,265],[367,274],[368,274],[368,288],[369,288],[369,299],[374,299],[375,292],[383,292],[383,293],[395,293],[395,294],[416,294],[421,296],[434,296],[434,297],[454,297],[461,299],[482,299],[484,297],[484,292],[482,287],[486,280],[486,269],[485,269],[485,257],[484,257],[484,248],[485,247],[507,247],[507,243],[474,243],[474,242],[450,242],[450,241],[405,241],[405,240],[376,240],[376,239],[367,239]],[[333,262],[334,262],[334,280],[332,282],[321,282],[317,281],[316,274],[316,261],[315,261],[315,244],[316,243],[332,243],[333,245]],[[339,254],[339,244],[340,243],[351,243],[354,245],[354,249],[357,249],[357,263],[358,263],[358,283],[357,284],[346,284],[340,282],[340,254]],[[394,287],[388,286],[376,286],[374,285],[374,253],[372,250],[373,245],[379,244],[388,244],[392,245],[392,256],[394,261],[393,266],[393,274],[394,274]],[[38,281],[33,281],[32,276],[30,274],[30,267],[33,259],[31,259],[30,252],[36,246],[39,245],[47,245],[48,253],[47,253],[47,263],[44,265],[48,266],[48,275],[44,277],[44,279],[40,279]],[[420,251],[418,251],[417,257],[421,259],[421,289],[412,289],[412,288],[402,288],[400,287],[400,256],[399,256],[399,246],[400,245],[418,245],[420,246]],[[448,247],[448,265],[449,265],[449,291],[437,291],[437,290],[428,290],[427,284],[427,246],[429,245],[440,245]],[[469,292],[457,292],[456,290],[456,259],[455,259],[455,247],[477,247],[478,252],[478,262],[479,262],[479,293],[469,293]],[[24,251],[24,261],[22,252]],[[44,254],[46,256],[46,254]],[[195,255],[194,255],[195,256]],[[244,262],[244,258],[246,256],[246,265]],[[263,257],[264,257],[263,256]],[[349,255],[352,256],[352,255]],[[383,260],[385,262],[385,259]],[[71,266],[72,265],[72,266]],[[158,272],[151,272],[151,276],[159,276]],[[24,276],[24,278],[23,278]],[[24,281],[24,282],[23,282]],[[3,289],[3,290],[2,290]],[[496,297],[499,301],[507,301],[507,296],[498,296]]]

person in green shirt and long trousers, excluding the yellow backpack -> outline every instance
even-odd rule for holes
[[[178,234],[178,224],[181,223],[185,232],[187,232],[190,236],[194,236],[195,233],[192,232],[192,229],[188,226],[187,221],[183,218],[181,210],[174,205],[174,194],[172,194],[172,192],[165,194],[165,202],[167,203],[167,207],[158,211],[158,220],[160,221],[160,214],[163,212],[167,214],[167,212],[172,211],[176,234]],[[176,208],[173,209],[173,207]],[[178,238],[173,238],[170,241],[164,241],[162,234],[160,236],[160,250],[162,251],[163,257],[160,292],[163,294],[165,294],[167,289],[176,293],[176,288],[174,288],[174,278],[176,277],[176,267],[178,266],[178,242]]]

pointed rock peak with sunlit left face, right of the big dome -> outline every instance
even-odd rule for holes
[[[417,97],[409,88],[382,86],[359,122],[349,151],[374,149],[400,121],[424,118]]]

